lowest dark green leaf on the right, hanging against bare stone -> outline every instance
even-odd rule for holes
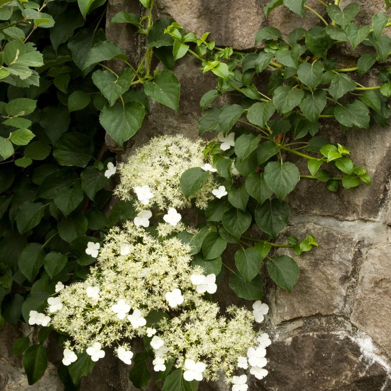
[[[266,267],[272,280],[290,293],[300,275],[297,263],[292,258],[282,255],[267,261]]]

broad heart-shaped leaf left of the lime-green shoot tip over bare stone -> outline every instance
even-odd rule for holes
[[[280,198],[284,198],[290,193],[299,182],[299,169],[297,166],[290,162],[269,162],[265,167],[264,178],[276,195]]]

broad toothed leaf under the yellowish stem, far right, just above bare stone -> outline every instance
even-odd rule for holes
[[[336,106],[334,115],[340,124],[349,128],[369,128],[369,109],[358,99],[345,106]]]

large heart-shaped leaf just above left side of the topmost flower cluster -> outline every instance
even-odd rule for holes
[[[140,129],[145,115],[144,106],[137,101],[122,105],[121,102],[114,106],[105,106],[99,116],[103,128],[121,147],[132,135]]]

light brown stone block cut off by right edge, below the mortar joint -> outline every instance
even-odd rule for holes
[[[369,334],[391,356],[391,245],[369,250],[360,270],[354,325]]]

